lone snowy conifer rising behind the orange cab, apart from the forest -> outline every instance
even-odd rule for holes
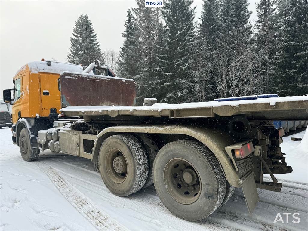
[[[67,55],[68,62],[85,66],[94,62],[95,59],[99,59],[101,63],[105,62],[92,23],[87,14],[79,16],[75,22],[72,34],[71,48]]]

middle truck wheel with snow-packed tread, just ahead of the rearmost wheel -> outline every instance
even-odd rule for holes
[[[106,187],[124,197],[140,190],[148,178],[148,160],[132,135],[108,137],[99,150],[99,170]]]

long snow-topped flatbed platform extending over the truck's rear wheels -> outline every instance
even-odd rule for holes
[[[258,98],[240,101],[199,103],[155,103],[148,107],[70,106],[60,110],[65,116],[118,115],[196,118],[243,115],[252,120],[307,120],[308,96]]]

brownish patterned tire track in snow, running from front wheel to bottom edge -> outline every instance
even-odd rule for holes
[[[96,229],[122,231],[128,230],[118,222],[112,220],[107,214],[103,213],[91,201],[87,200],[74,186],[60,176],[54,168],[44,162],[35,162],[41,168],[52,183],[58,188],[60,193],[81,213]]]

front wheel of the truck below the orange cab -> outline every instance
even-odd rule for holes
[[[22,159],[32,161],[39,158],[39,149],[34,151],[30,147],[30,136],[27,128],[22,128],[19,134],[19,150]]]

